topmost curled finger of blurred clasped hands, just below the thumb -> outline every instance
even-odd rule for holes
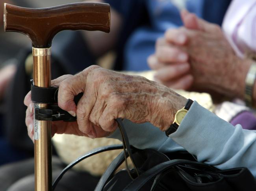
[[[186,45],[188,41],[188,36],[182,28],[168,29],[165,32],[165,39],[169,43],[182,46],[182,45]]]

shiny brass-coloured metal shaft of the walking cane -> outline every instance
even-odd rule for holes
[[[51,85],[51,48],[33,48],[33,81],[39,87]],[[34,104],[45,108],[47,104]],[[52,190],[51,122],[34,119],[35,191]]]

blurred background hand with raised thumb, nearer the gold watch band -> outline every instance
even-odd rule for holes
[[[193,81],[188,83],[191,89],[242,97],[245,76],[251,61],[242,60],[235,55],[218,25],[210,24],[187,11],[182,11],[181,16],[186,28],[169,29],[165,33],[164,43],[189,55],[189,73],[193,75]],[[180,35],[185,36],[183,44],[178,40]],[[158,48],[157,46],[156,49]],[[160,60],[158,65],[161,65]],[[158,80],[163,81],[161,78]],[[171,79],[168,83],[173,82]]]

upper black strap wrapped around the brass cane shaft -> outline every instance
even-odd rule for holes
[[[38,87],[31,85],[31,100],[34,103],[54,104],[58,102],[56,97],[58,97],[58,87]]]

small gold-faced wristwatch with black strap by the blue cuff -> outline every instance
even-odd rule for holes
[[[188,99],[186,106],[183,107],[182,109],[178,110],[174,116],[174,121],[173,124],[171,124],[171,126],[165,131],[165,135],[169,136],[172,133],[174,133],[178,127],[180,126],[183,118],[185,117],[185,115],[187,114],[190,106],[193,104],[193,100]]]

